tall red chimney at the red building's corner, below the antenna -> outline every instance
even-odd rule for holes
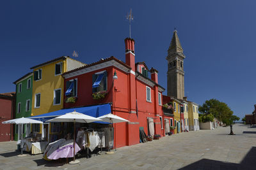
[[[125,63],[128,64],[132,71],[135,72],[135,54],[134,54],[134,39],[125,38]]]

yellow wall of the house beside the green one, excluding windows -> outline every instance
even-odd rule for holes
[[[62,73],[66,71],[66,61],[58,60],[50,64],[36,67],[33,71],[42,69],[42,79],[33,80],[33,96],[31,115],[41,115],[63,108],[64,79],[60,75],[55,76],[55,64],[62,62]],[[61,104],[53,105],[54,90],[61,89]],[[40,108],[35,108],[35,94],[41,93]]]

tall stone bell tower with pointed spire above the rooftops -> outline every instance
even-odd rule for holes
[[[184,60],[185,55],[180,45],[177,31],[173,31],[172,41],[168,48],[167,96],[178,99],[184,97]]]

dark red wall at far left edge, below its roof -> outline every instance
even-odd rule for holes
[[[11,124],[2,124],[6,120],[13,119],[12,99],[0,98],[0,141],[13,140],[13,129]]]

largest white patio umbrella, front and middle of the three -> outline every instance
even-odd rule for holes
[[[65,115],[61,115],[60,117],[52,118],[51,120],[47,120],[46,122],[74,122],[74,160],[69,162],[70,164],[78,164],[79,160],[75,159],[75,138],[76,138],[76,122],[79,123],[91,123],[96,121],[102,121],[100,118],[90,117],[88,115],[84,115],[83,113],[78,113],[76,111],[66,113]]]

